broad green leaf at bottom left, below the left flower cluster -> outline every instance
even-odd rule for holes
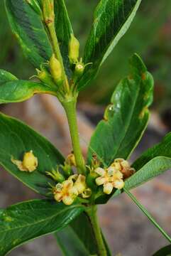
[[[0,255],[67,226],[84,207],[46,200],[18,203],[0,211]]]

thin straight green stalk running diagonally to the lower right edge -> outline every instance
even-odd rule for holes
[[[155,225],[156,228],[158,228],[158,230],[160,230],[160,232],[162,233],[162,235],[165,236],[165,238],[171,242],[171,238],[169,235],[167,235],[167,233],[165,233],[165,230],[163,230],[160,225],[158,225],[158,223],[153,219],[153,217],[150,215],[150,213],[148,213],[148,210],[145,209],[144,206],[142,206],[138,200],[136,199],[135,196],[133,196],[133,194],[128,191],[126,188],[123,188],[123,190],[127,193],[127,195],[133,200],[134,203],[136,203],[136,205],[138,206],[138,208],[140,208],[140,210],[143,211],[143,213],[148,217],[148,219],[153,223],[153,225]]]

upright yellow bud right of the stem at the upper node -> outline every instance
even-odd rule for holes
[[[79,41],[73,34],[71,34],[70,43],[69,43],[69,58],[70,63],[77,63],[79,58]]]

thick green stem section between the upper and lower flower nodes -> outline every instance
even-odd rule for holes
[[[65,112],[67,114],[67,120],[70,127],[70,135],[72,139],[72,147],[75,154],[75,161],[79,174],[86,173],[86,167],[84,164],[84,158],[82,156],[82,150],[79,143],[79,132],[77,127],[77,112],[76,112],[77,97],[70,97],[62,102]]]

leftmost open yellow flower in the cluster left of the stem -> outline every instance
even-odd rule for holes
[[[75,198],[78,196],[77,189],[74,187],[73,181],[63,181],[57,183],[53,190],[54,198],[57,202],[63,202],[65,205],[70,206]]]

